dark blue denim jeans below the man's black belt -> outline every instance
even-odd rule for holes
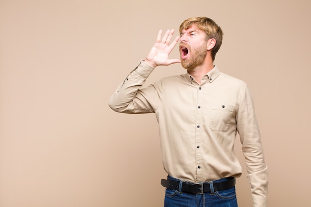
[[[171,176],[168,176],[167,178],[180,181]],[[224,179],[213,182],[221,182]],[[237,207],[235,187],[233,186],[227,190],[203,194],[193,194],[166,189],[164,207]]]

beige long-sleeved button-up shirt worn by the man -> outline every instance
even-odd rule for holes
[[[165,171],[194,183],[241,175],[233,151],[239,133],[253,206],[266,207],[267,166],[247,85],[215,66],[201,84],[186,73],[143,88],[153,70],[141,61],[109,106],[122,113],[155,113]]]

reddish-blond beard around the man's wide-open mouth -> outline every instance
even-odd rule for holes
[[[206,44],[202,44],[201,47],[193,50],[190,47],[187,48],[189,50],[188,53],[190,54],[190,57],[185,60],[181,59],[181,66],[188,71],[193,71],[196,67],[202,66],[204,63],[207,54]]]

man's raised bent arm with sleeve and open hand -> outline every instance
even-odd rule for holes
[[[151,72],[157,66],[168,66],[180,63],[179,59],[169,59],[168,56],[176,46],[179,37],[176,37],[172,44],[170,40],[174,30],[167,30],[161,39],[162,30],[158,32],[156,43],[150,50],[148,56],[140,65],[134,69],[118,87],[109,100],[109,107],[117,112],[123,113],[151,113],[153,108],[148,101],[148,95],[140,88],[145,83]],[[154,91],[154,90],[146,90]]]

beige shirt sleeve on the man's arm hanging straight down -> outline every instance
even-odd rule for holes
[[[237,130],[245,157],[253,207],[267,207],[268,172],[265,164],[254,104],[245,86],[237,113]]]

